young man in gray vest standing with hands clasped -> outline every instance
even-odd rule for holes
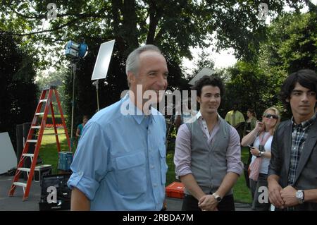
[[[232,187],[242,174],[237,130],[218,115],[223,84],[204,76],[192,87],[200,111],[178,130],[175,172],[185,186],[182,210],[235,210]]]

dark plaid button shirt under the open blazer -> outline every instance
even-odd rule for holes
[[[315,119],[316,114],[314,114],[308,121],[296,124],[294,118],[292,118],[292,149],[290,156],[290,171],[288,174],[288,185],[290,186],[294,186],[296,169],[302,154],[304,142]]]

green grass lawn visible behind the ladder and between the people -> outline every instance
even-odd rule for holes
[[[58,133],[64,133],[63,129],[58,129]],[[57,174],[57,164],[58,164],[58,152],[56,146],[56,139],[54,135],[54,129],[44,130],[44,136],[42,138],[41,149],[39,150],[39,157],[43,160],[44,164],[52,165],[52,173]],[[66,135],[58,135],[61,143],[61,150],[68,151],[68,145],[66,142]],[[175,178],[175,165],[173,162],[175,150],[175,140],[171,140],[168,144],[168,154],[166,157],[166,163],[168,164],[168,173],[166,175],[166,186],[168,186]],[[249,152],[247,147],[242,148],[242,162],[247,162],[247,157]],[[236,202],[251,203],[251,193],[247,188],[244,175],[240,176],[235,187],[233,188],[233,194]]]

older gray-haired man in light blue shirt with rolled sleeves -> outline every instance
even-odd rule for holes
[[[154,91],[151,101],[161,100],[166,60],[157,47],[145,45],[132,51],[126,67],[129,94],[95,114],[83,130],[68,181],[72,210],[163,207],[166,123],[159,111],[144,107],[143,96]]]

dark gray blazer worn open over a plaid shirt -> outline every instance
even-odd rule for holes
[[[292,121],[280,123],[275,130],[271,153],[272,158],[268,167],[268,175],[280,176],[280,186],[285,188],[288,183],[290,169],[290,154],[292,147]],[[303,152],[297,166],[294,188],[307,190],[317,188],[317,119],[311,125]],[[304,202],[297,205],[295,210],[317,210],[317,203]]]

